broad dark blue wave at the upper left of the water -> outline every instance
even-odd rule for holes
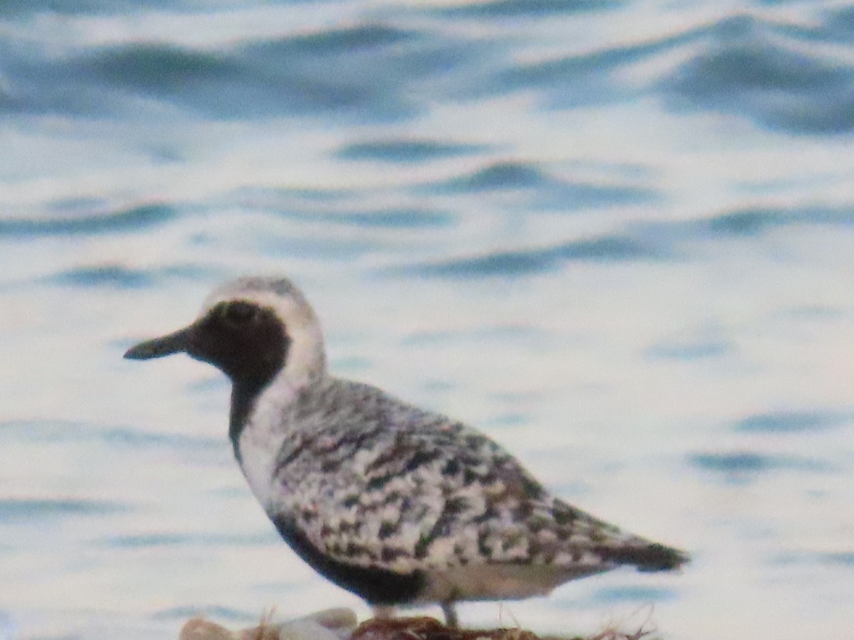
[[[131,41],[57,60],[48,51],[12,49],[4,77],[8,96],[0,108],[98,116],[128,109],[138,117],[136,98],[144,96],[226,119],[329,113],[397,119],[424,108],[412,96],[412,83],[442,77],[438,73],[471,61],[479,49],[442,33],[383,24],[249,41],[215,52]]]

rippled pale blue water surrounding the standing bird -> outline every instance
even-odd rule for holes
[[[694,557],[466,623],[850,636],[852,42],[832,2],[7,0],[0,637],[367,614],[254,503],[223,378],[121,359],[253,272],[336,373]]]

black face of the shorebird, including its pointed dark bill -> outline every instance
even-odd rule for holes
[[[276,315],[247,300],[220,302],[196,323],[133,346],[125,358],[186,352],[221,369],[243,388],[260,388],[284,366],[290,340]]]

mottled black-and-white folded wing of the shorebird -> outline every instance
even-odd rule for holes
[[[278,506],[325,555],[395,573],[517,563],[582,574],[637,564],[632,550],[650,548],[549,496],[482,433],[354,389],[365,395],[327,411],[279,461]]]

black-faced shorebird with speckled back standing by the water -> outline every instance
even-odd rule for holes
[[[688,561],[553,497],[475,428],[330,374],[319,319],[285,277],[226,282],[193,323],[125,358],[179,352],[231,380],[231,446],[281,537],[377,617],[438,604],[457,626],[457,602]]]

